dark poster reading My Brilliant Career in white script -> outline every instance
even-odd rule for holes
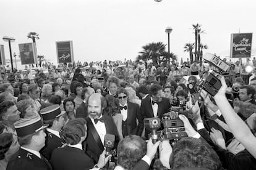
[[[250,58],[252,33],[231,34],[230,58]]]

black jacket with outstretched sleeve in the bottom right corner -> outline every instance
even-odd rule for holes
[[[213,146],[217,155],[220,157],[223,168],[227,170],[256,169],[256,159],[247,150],[242,150],[234,155],[228,150],[224,150],[218,145],[213,144],[206,129],[200,129],[198,133],[203,137],[203,139],[207,140],[208,144]]]

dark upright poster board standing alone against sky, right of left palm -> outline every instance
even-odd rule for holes
[[[56,50],[58,63],[74,62],[72,41],[56,41]]]

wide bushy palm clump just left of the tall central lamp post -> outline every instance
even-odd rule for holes
[[[163,42],[151,42],[142,47],[143,51],[139,52],[137,59],[142,59],[146,62],[149,59],[152,59],[153,65],[158,65],[161,53],[165,51],[166,44]]]

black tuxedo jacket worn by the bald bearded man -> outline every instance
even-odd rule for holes
[[[105,120],[105,127],[106,127],[106,134],[113,134],[115,136],[114,148],[117,148],[119,137],[116,128],[116,124],[111,116],[103,115]],[[86,118],[87,120],[87,138],[83,142],[85,150],[88,156],[93,159],[94,163],[98,163],[98,159],[100,154],[104,150],[104,146],[100,140],[100,136],[96,131],[91,119],[89,117]]]

